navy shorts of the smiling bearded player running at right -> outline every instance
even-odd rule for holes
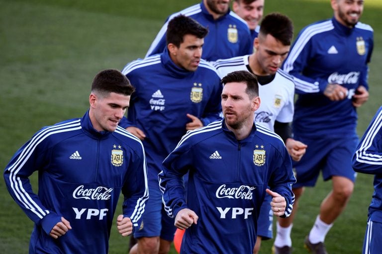
[[[293,188],[315,186],[320,171],[324,181],[331,179],[332,176],[342,176],[355,182],[356,172],[353,170],[351,160],[359,142],[356,134],[325,138],[294,135],[293,138],[308,146],[300,161],[292,161],[297,180]]]

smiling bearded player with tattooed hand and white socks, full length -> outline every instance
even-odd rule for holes
[[[299,162],[293,162],[296,203],[292,215],[278,222],[278,253],[290,253],[298,198],[304,187],[315,185],[321,170],[324,181],[332,180],[332,191],[322,201],[314,226],[304,240],[312,253],[326,253],[325,236],[354,189],[356,173],[351,158],[358,144],[356,108],[369,98],[373,29],[359,22],[363,0],[331,0],[331,6],[334,16],[305,27],[283,65],[294,77],[298,94],[294,138],[307,144],[308,149]]]

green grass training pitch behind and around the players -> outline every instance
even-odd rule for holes
[[[196,0],[0,0],[0,168],[42,126],[81,117],[88,109],[90,85],[101,69],[121,69],[143,58],[165,18]],[[330,18],[329,0],[266,0],[265,12],[279,11],[305,25]],[[381,105],[382,3],[365,0],[362,22],[375,30],[370,64],[370,100],[359,109],[361,135]],[[339,165],[341,166],[341,165]],[[31,177],[35,191],[36,175]],[[309,232],[330,182],[307,189],[292,231],[295,254],[303,254]],[[331,254],[361,253],[373,177],[359,174],[346,211],[326,238]],[[0,181],[0,252],[28,251],[33,223]],[[121,211],[121,206],[118,212]],[[273,241],[261,253],[271,253]],[[126,254],[128,238],[112,228],[110,254]],[[172,253],[175,253],[172,250]]]

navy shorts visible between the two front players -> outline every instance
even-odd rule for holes
[[[176,227],[174,218],[167,215],[162,203],[162,191],[159,189],[157,179],[149,179],[149,200],[145,206],[145,212],[142,214],[142,224],[136,232],[134,238],[157,237],[173,241]]]

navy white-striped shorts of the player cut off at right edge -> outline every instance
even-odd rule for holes
[[[369,219],[365,233],[363,254],[380,254],[382,251],[382,223]]]

